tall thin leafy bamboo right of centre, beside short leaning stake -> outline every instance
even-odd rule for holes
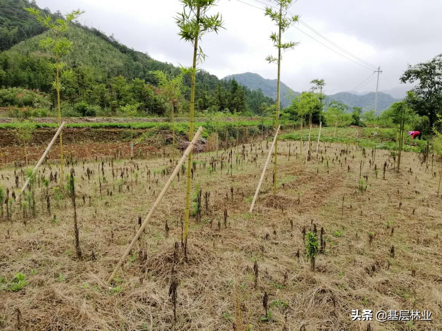
[[[299,16],[295,15],[293,17],[287,16],[287,10],[292,4],[292,0],[275,0],[276,4],[279,6],[279,11],[273,10],[272,7],[266,6],[265,16],[269,16],[272,22],[278,26],[278,33],[272,32],[270,35],[271,41],[273,41],[274,47],[278,49],[278,57],[274,57],[269,55],[266,57],[266,61],[269,63],[278,64],[278,80],[276,83],[276,120],[275,120],[275,130],[278,129],[278,121],[279,121],[279,103],[280,103],[280,95],[279,95],[279,84],[280,84],[280,76],[281,76],[281,50],[286,51],[288,49],[293,49],[299,42],[287,41],[282,42],[281,36],[282,34],[289,28],[289,26],[298,21]],[[284,12],[282,11],[284,9]],[[273,195],[276,196],[276,183],[277,183],[277,170],[278,170],[278,137],[276,137],[276,142],[274,145],[274,170],[273,170]]]

